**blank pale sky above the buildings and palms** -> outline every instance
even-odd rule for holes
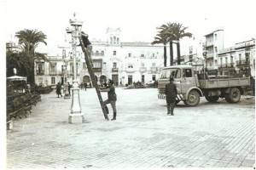
[[[47,35],[42,52],[55,54],[68,38],[66,28],[76,13],[90,39],[106,41],[108,27],[120,27],[121,42],[153,42],[157,27],[178,22],[201,40],[224,29],[224,46],[255,38],[255,0],[1,0],[5,6],[6,42],[15,32],[38,29]],[[190,40],[181,42],[187,44]],[[188,47],[186,47],[188,48]],[[188,48],[189,50],[189,48]],[[183,51],[182,51],[183,53]]]

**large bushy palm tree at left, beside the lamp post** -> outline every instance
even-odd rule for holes
[[[38,48],[38,44],[41,42],[47,45],[47,42],[45,42],[47,37],[42,31],[28,29],[16,32],[15,36],[19,38],[20,48],[29,59],[31,71],[28,75],[28,81],[34,84],[34,60],[37,59],[38,62],[40,62],[40,59],[49,60],[44,54],[36,53],[35,49]]]

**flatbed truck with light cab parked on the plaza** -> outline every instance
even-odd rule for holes
[[[200,97],[209,102],[216,102],[224,98],[229,103],[237,103],[243,94],[243,88],[250,85],[250,77],[208,76],[205,68],[198,65],[172,65],[165,67],[160,73],[158,81],[159,99],[166,99],[165,88],[169,78],[174,78],[177,85],[177,103],[183,101],[185,105],[195,106]]]

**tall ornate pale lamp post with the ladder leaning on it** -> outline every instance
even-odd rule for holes
[[[73,51],[73,88],[72,89],[72,105],[71,113],[68,115],[68,122],[72,123],[74,116],[81,116],[82,122],[84,122],[84,114],[81,111],[80,98],[79,98],[79,84],[77,80],[77,61],[76,61],[76,46],[78,45],[78,37],[81,35],[81,28],[83,22],[75,18],[76,14],[73,14],[73,20],[69,20],[72,29],[67,28],[67,33],[72,34],[72,51]]]

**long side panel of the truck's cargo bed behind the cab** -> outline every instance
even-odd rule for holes
[[[250,77],[199,80],[200,88],[230,88],[250,85]]]

